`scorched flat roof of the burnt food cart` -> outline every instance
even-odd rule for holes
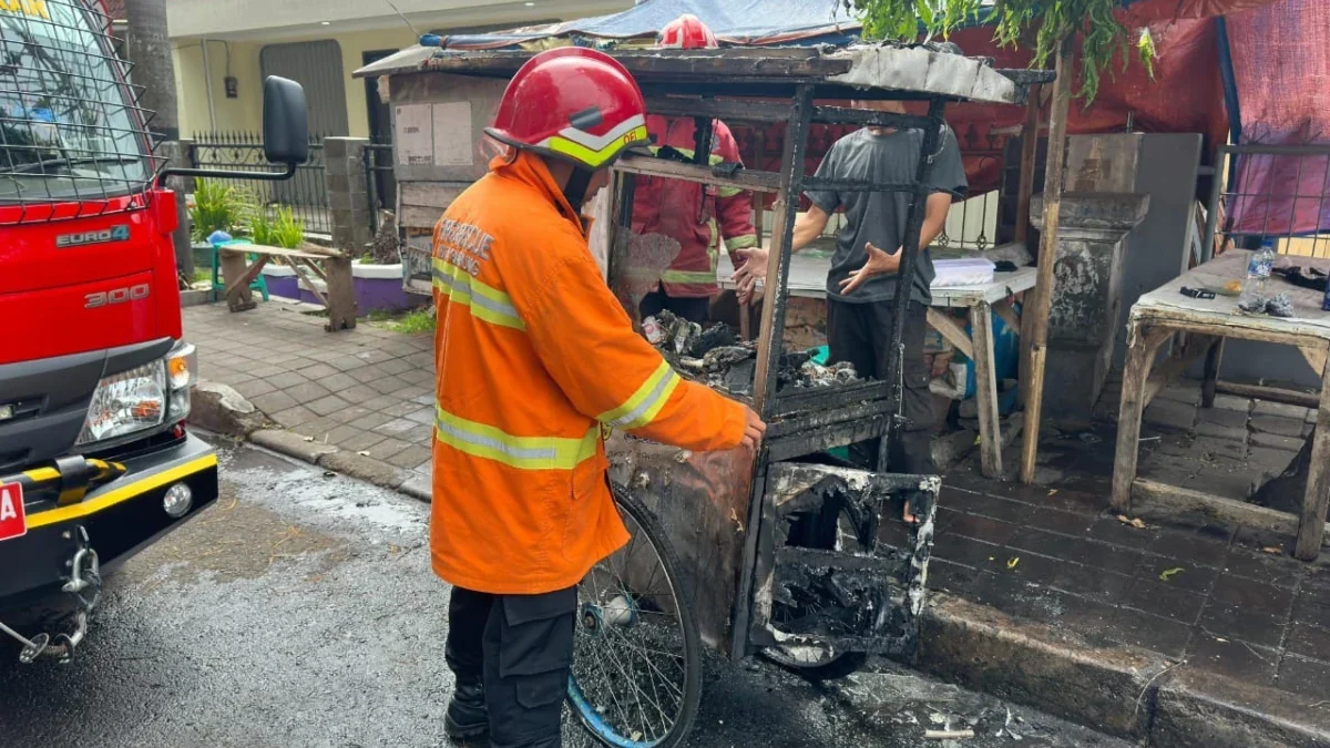
[[[455,51],[411,47],[366,65],[356,77],[443,72],[511,77],[533,52]],[[853,45],[724,49],[609,51],[644,88],[712,96],[789,96],[799,84],[821,98],[946,96],[992,104],[1021,104],[1043,71],[998,71],[987,59],[923,47]]]

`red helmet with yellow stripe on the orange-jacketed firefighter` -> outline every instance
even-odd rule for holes
[[[536,55],[508,83],[495,140],[596,170],[645,146],[646,104],[637,81],[609,55],[563,47]]]

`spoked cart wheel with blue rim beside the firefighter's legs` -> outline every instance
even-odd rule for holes
[[[632,539],[577,587],[568,705],[602,745],[670,748],[697,717],[701,638],[665,531],[626,490],[613,494]]]

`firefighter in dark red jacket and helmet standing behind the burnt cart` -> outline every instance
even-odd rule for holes
[[[682,15],[661,29],[661,49],[716,49],[716,35],[697,16]],[[652,150],[669,148],[688,160],[697,148],[692,117],[646,117]],[[712,121],[710,162],[741,162],[739,146],[725,122]],[[690,322],[706,322],[708,303],[720,290],[716,260],[721,241],[735,268],[741,249],[757,246],[753,200],[747,192],[686,180],[637,177],[633,197],[633,233],[662,234],[680,244],[678,257],[661,276],[661,285],[642,298],[642,318],[668,309]]]

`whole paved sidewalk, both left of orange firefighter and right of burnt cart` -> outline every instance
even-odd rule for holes
[[[321,317],[278,302],[184,317],[202,378],[273,423],[255,442],[428,500],[432,335],[364,322],[329,334]],[[1261,471],[1287,465],[1314,417],[1232,397],[1197,405],[1192,383],[1152,405],[1142,475],[1245,498]],[[952,468],[930,586],[1107,651],[1140,647],[1185,661],[1178,672],[1269,687],[1318,713],[1330,692],[1330,562],[1295,562],[1289,539],[1245,528],[1124,526],[1104,511],[1113,445],[1111,425],[1052,430],[1037,487],[982,478],[978,455]],[[902,536],[899,523],[884,526],[884,542]]]

